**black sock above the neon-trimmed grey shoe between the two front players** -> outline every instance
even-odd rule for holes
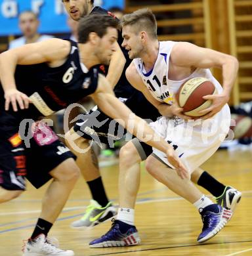
[[[89,185],[93,200],[102,205],[102,207],[105,207],[108,204],[108,198],[102,183],[102,177],[88,181],[87,184]]]

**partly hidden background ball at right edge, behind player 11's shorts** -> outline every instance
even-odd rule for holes
[[[231,118],[236,121],[235,126],[230,129],[234,131],[234,139],[243,139],[252,137],[252,119],[249,116],[232,114]]]

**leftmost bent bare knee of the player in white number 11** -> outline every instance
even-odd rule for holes
[[[137,163],[142,161],[140,156],[132,142],[128,142],[124,146],[121,147],[119,152],[120,163],[125,165],[132,165],[133,163]]]

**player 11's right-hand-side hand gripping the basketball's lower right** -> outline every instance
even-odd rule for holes
[[[225,93],[221,93],[219,95],[206,95],[203,96],[203,99],[213,100],[213,103],[211,104],[211,106],[209,106],[209,108],[206,108],[205,110],[201,110],[199,112],[200,114],[204,115],[200,117],[201,119],[208,119],[215,116],[215,114],[221,111],[223,106],[228,102],[229,96]]]

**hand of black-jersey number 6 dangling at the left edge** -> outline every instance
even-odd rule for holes
[[[21,93],[17,89],[9,89],[5,91],[5,110],[8,111],[10,108],[10,104],[12,105],[12,109],[14,112],[18,111],[18,106],[21,110],[24,108],[29,108],[29,103],[31,103],[30,98]]]

